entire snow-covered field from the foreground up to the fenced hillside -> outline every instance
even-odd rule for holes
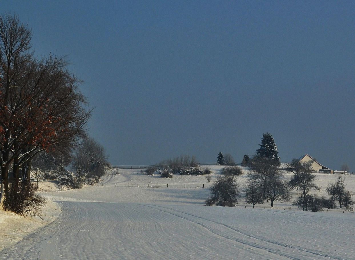
[[[210,168],[220,175],[221,166]],[[243,199],[234,208],[208,207],[205,176],[119,172],[96,186],[43,193],[61,205],[58,220],[0,251],[0,259],[355,258],[354,213],[301,212],[291,202],[252,209]],[[316,174],[317,193],[335,178]],[[242,187],[245,175],[238,179]],[[345,183],[355,190],[355,176]]]

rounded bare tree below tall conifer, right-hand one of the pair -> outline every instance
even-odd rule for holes
[[[271,201],[271,207],[274,201],[286,202],[291,200],[288,182],[281,180],[279,176],[273,176],[267,182],[265,196]]]

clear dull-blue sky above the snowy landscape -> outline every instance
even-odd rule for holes
[[[355,4],[347,1],[1,1],[35,55],[67,55],[112,164],[180,154],[236,162],[270,132],[355,170]]]

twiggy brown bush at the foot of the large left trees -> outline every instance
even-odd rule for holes
[[[34,183],[13,183],[9,194],[4,200],[4,209],[15,212],[25,218],[27,216],[40,217],[40,206],[45,204],[44,197],[37,194],[37,185]]]

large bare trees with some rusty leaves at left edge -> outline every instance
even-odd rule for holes
[[[5,197],[5,210],[17,213],[21,204],[43,203],[30,182],[33,159],[53,157],[64,168],[58,161],[87,138],[91,115],[65,58],[35,57],[31,38],[18,16],[0,16],[0,201]]]

